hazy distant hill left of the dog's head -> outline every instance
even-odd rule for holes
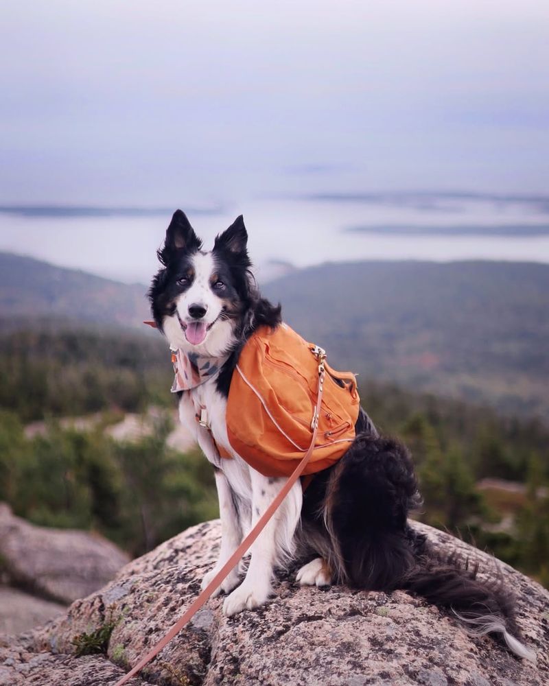
[[[75,320],[142,328],[150,316],[145,285],[127,285],[0,252],[0,318]]]

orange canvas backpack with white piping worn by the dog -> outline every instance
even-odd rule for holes
[[[242,348],[229,389],[227,433],[231,447],[264,476],[289,476],[309,447],[318,350],[287,324],[257,329]],[[355,377],[325,368],[316,445],[305,474],[337,462],[355,438]]]

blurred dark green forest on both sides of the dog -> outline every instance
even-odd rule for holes
[[[217,516],[207,460],[166,442],[174,398],[161,340],[20,331],[0,338],[0,369],[0,500],[16,514],[96,530],[135,556]],[[425,501],[419,519],[549,585],[543,423],[379,381],[362,380],[361,398],[379,429],[412,451]],[[110,436],[127,412],[152,405],[148,435]],[[94,421],[80,428],[62,421],[89,413]]]

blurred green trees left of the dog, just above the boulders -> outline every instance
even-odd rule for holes
[[[150,436],[119,442],[104,423],[82,431],[50,421],[27,438],[20,418],[3,410],[0,500],[34,523],[96,530],[141,555],[218,515],[211,467],[198,450],[166,446],[170,424],[161,416]]]

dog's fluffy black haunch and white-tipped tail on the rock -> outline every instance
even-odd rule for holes
[[[451,609],[467,632],[499,634],[518,657],[535,659],[515,638],[514,603],[502,582],[478,580],[476,567],[442,558],[410,528],[408,512],[420,503],[406,447],[358,436],[332,473],[325,499],[336,577],[360,589],[417,593]]]

